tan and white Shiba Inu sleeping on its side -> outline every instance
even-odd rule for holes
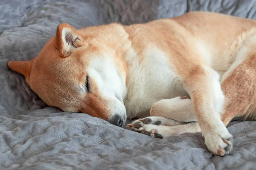
[[[231,119],[256,117],[254,20],[191,12],[131,26],[62,23],[37,57],[8,66],[50,106],[120,127],[144,118],[127,126],[154,137],[201,132],[219,156],[232,149]]]

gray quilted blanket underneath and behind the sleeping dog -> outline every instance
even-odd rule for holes
[[[255,169],[256,122],[230,123],[234,149],[221,158],[209,153],[199,133],[154,139],[49,107],[7,67],[9,60],[37,56],[59,23],[145,23],[195,10],[256,19],[255,0],[0,1],[0,169]]]

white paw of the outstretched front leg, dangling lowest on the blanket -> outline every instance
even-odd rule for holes
[[[225,156],[232,150],[233,136],[230,133],[208,133],[204,136],[205,144],[214,155]]]

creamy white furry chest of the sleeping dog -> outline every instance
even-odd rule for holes
[[[161,99],[186,96],[172,63],[163,51],[148,49],[143,59],[130,56],[130,65],[126,102],[128,117],[149,115],[153,103]]]

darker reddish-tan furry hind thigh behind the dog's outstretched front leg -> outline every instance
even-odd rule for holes
[[[249,74],[248,74],[249,73]],[[226,96],[221,119],[227,125],[233,117],[255,119],[256,111],[256,50],[222,83]]]

